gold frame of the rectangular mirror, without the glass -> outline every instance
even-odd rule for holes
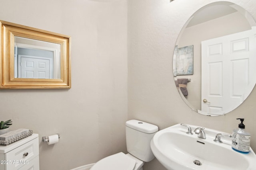
[[[71,88],[71,37],[6,21],[0,32],[0,89]],[[60,79],[14,78],[14,36],[60,44]]]

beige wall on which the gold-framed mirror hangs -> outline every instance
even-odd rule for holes
[[[0,20],[71,36],[70,90],[0,90],[1,120],[40,141],[40,170],[70,170],[126,152],[127,3],[125,0],[0,0]]]

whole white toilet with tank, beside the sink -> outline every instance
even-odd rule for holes
[[[128,154],[119,152],[96,162],[90,170],[143,170],[144,162],[154,159],[150,141],[158,131],[156,125],[138,120],[126,121]]]

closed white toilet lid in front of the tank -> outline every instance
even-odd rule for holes
[[[136,160],[119,152],[99,160],[90,170],[134,170],[135,165]]]

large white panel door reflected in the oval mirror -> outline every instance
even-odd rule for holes
[[[202,111],[225,114],[249,96],[256,83],[255,46],[254,29],[202,41]]]

